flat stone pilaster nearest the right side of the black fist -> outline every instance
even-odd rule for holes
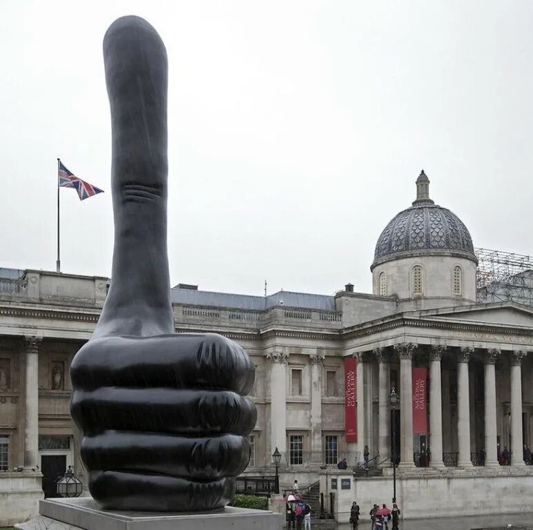
[[[270,443],[271,451],[287,453],[287,360],[289,354],[278,346],[272,353],[267,353],[272,361],[270,371]],[[268,455],[267,455],[268,459]]]

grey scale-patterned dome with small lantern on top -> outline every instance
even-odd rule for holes
[[[477,263],[467,227],[450,210],[429,199],[424,170],[416,179],[416,201],[382,231],[371,269],[391,259],[417,255],[455,255]]]

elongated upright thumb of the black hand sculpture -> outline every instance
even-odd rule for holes
[[[166,248],[166,50],[139,17],[104,37],[111,110],[115,247],[112,281],[95,336],[173,333]]]

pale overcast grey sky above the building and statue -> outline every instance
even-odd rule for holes
[[[533,253],[530,1],[0,2],[0,266],[110,275],[101,41],[124,14],[169,57],[171,281],[371,290],[374,245],[430,195],[475,246]]]

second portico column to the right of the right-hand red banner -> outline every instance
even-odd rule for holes
[[[457,357],[457,442],[458,467],[471,467],[470,460],[470,392],[468,361],[473,348],[461,348]]]

